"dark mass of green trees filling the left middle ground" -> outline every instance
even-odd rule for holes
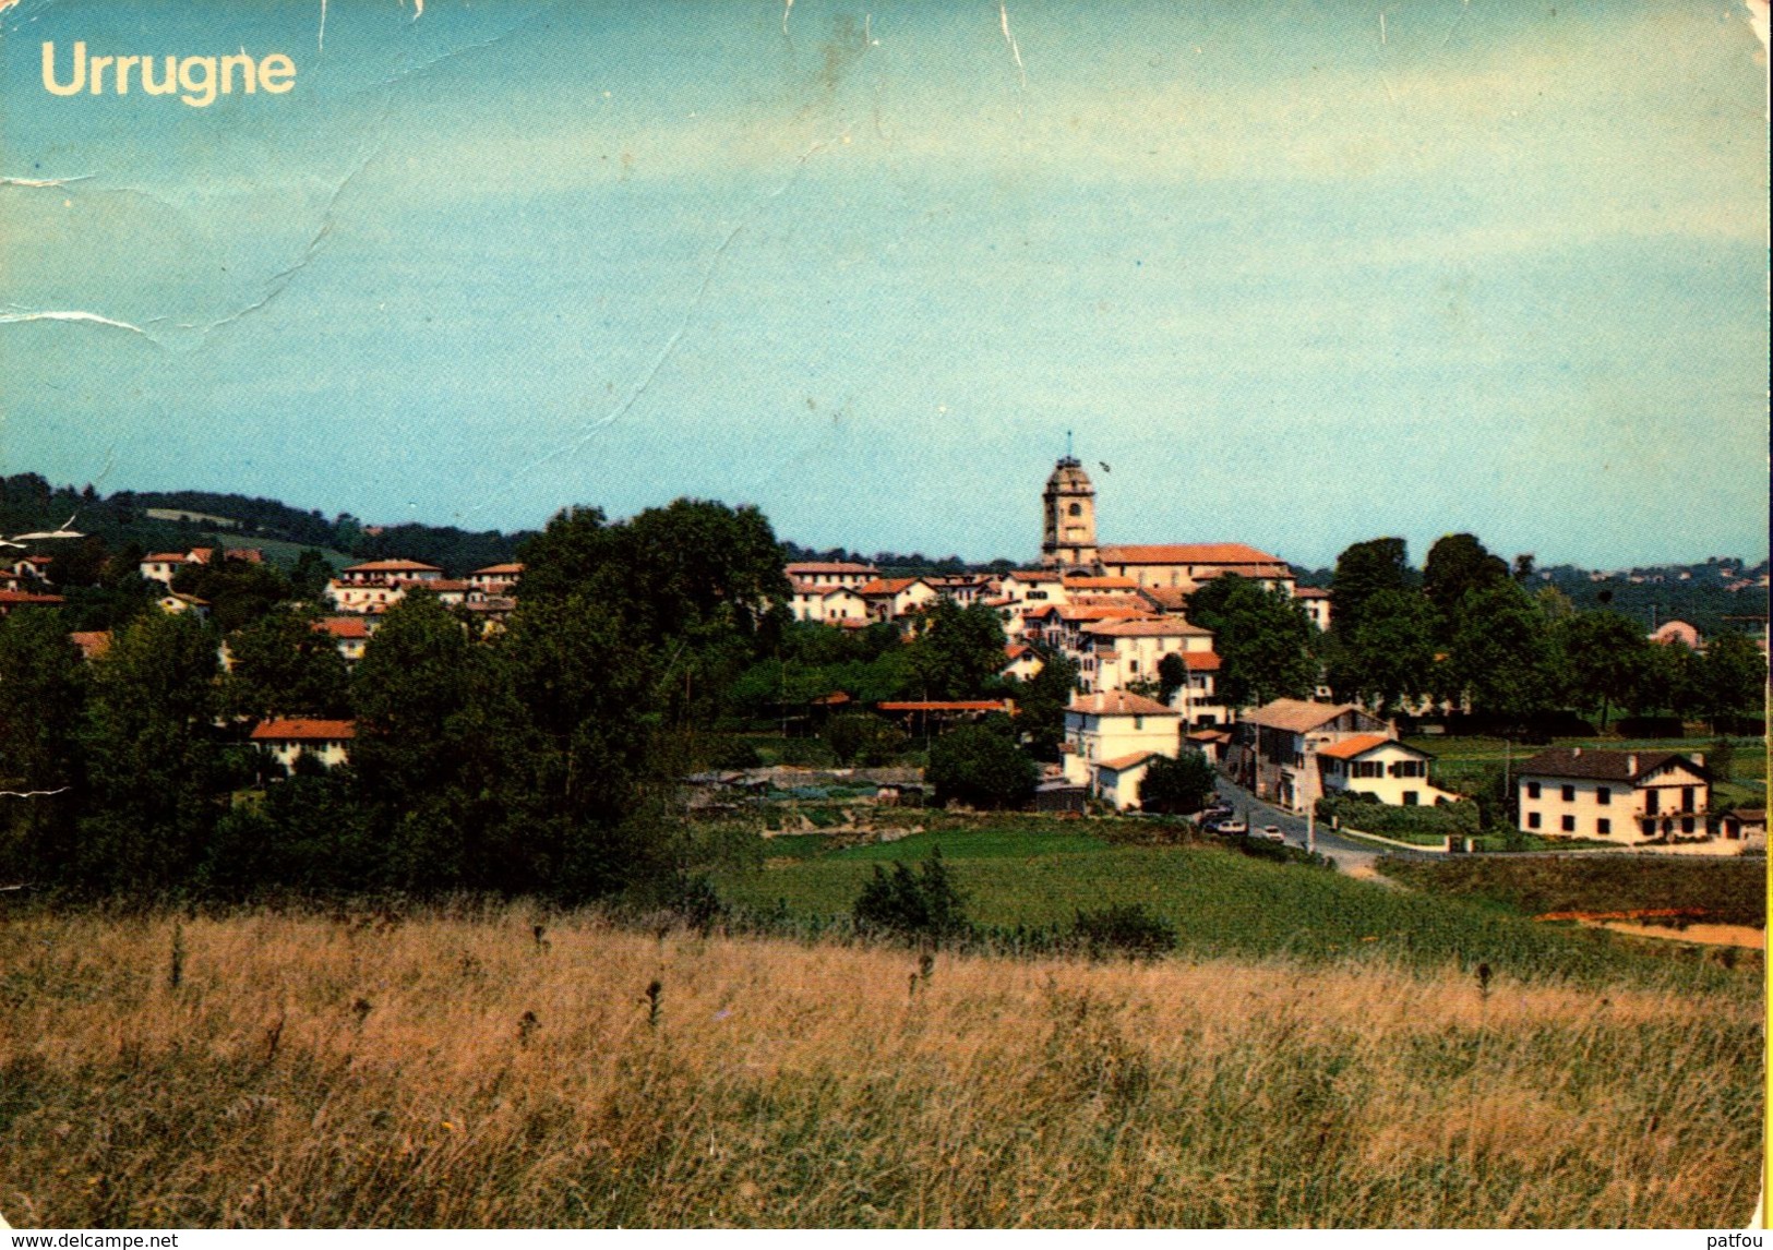
[[[351,670],[316,629],[317,569],[181,571],[213,619],[129,612],[92,661],[69,612],[0,619],[0,876],[142,899],[668,894],[697,856],[679,780],[784,690],[1023,693],[988,608],[943,601],[915,638],[793,622],[782,544],[750,507],[569,509],[519,555],[504,629],[411,592]],[[115,557],[92,576],[126,592]],[[1058,679],[1025,699],[1053,750]],[[303,757],[266,784],[248,732],[278,716],[355,720],[349,764]]]

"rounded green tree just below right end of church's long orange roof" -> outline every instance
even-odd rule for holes
[[[1215,635],[1225,702],[1305,699],[1317,684],[1312,622],[1284,592],[1236,574],[1215,578],[1188,596],[1188,619]]]

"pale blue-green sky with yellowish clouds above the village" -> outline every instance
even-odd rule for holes
[[[1071,431],[1105,543],[1759,560],[1766,57],[1573,9],[18,0],[0,472],[1032,560]]]

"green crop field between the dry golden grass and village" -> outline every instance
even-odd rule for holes
[[[1101,828],[1117,823],[1105,821]],[[1062,931],[1080,910],[1142,904],[1181,934],[1181,950],[1303,961],[1383,957],[1456,963],[1521,979],[1583,982],[1668,977],[1711,984],[1723,970],[1702,954],[1651,947],[1597,929],[1534,924],[1489,899],[1447,897],[1358,881],[1298,863],[1246,858],[1218,844],[1126,846],[1096,824],[996,817],[897,842],[817,853],[817,839],[771,839],[766,867],[730,869],[722,899],[754,915],[842,926],[876,865],[924,860],[940,846],[966,894],[968,918],[995,931]]]

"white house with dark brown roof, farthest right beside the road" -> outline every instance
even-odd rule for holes
[[[1514,785],[1527,833],[1619,844],[1711,833],[1711,773],[1700,755],[1558,746],[1525,761]]]

